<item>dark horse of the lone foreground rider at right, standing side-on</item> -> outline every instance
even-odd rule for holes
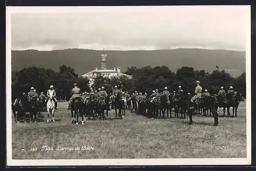
[[[217,113],[217,108],[218,108],[217,99],[214,96],[206,96],[201,100],[214,116],[214,126],[217,126],[219,123],[218,113]],[[192,124],[193,123],[192,117],[193,117],[193,111],[195,109],[195,102],[191,102],[190,100],[188,100],[186,102],[186,109],[187,109],[187,114],[189,116],[189,124]]]

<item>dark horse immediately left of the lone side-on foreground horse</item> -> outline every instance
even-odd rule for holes
[[[175,117],[179,118],[179,111],[182,115],[184,115],[184,119],[186,119],[186,100],[183,94],[177,95],[174,99],[175,103]]]

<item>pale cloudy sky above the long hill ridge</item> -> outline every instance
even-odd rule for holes
[[[248,8],[84,7],[11,15],[13,50],[245,50]]]

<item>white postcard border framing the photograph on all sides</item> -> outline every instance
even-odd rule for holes
[[[187,6],[191,8],[191,6]],[[226,7],[226,6],[218,6]],[[230,6],[232,7],[232,6]],[[239,6],[236,6],[239,7]],[[12,112],[11,112],[11,14],[13,13],[74,13],[105,9],[111,12],[117,10],[151,10],[155,7],[7,7],[6,8],[6,126],[7,126],[7,166],[72,166],[72,165],[249,165],[251,164],[251,19],[250,6],[247,12],[246,30],[246,131],[247,157],[246,158],[203,158],[203,159],[61,159],[61,160],[13,160],[12,159]],[[166,8],[164,6],[157,7]]]

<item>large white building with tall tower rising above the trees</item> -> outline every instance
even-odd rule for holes
[[[83,78],[88,78],[89,79],[89,86],[91,87],[94,84],[94,80],[97,75],[101,75],[103,77],[120,77],[120,76],[126,76],[127,78],[131,79],[131,75],[123,74],[121,73],[121,68],[120,67],[114,67],[111,70],[106,69],[106,54],[101,54],[101,69],[98,69],[97,67],[95,70],[90,71],[89,73],[86,73],[82,75]]]

